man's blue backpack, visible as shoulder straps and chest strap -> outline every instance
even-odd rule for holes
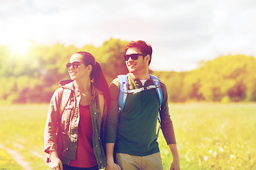
[[[161,92],[160,81],[154,75],[149,74],[149,76],[153,80],[154,85],[142,87],[140,89],[133,89],[133,90],[129,90],[127,75],[124,74],[124,75],[117,76],[118,79],[119,79],[119,85],[120,85],[120,93],[119,93],[119,98],[118,98],[119,113],[124,110],[124,105],[125,105],[125,102],[127,100],[127,95],[128,94],[136,94],[136,93],[139,93],[141,91],[145,91],[145,90],[149,90],[149,89],[155,89],[156,90],[156,94],[159,97],[159,111],[161,110],[161,103],[163,101],[163,94]],[[160,118],[159,114],[158,114],[158,120],[159,120],[159,123],[161,123],[161,118]],[[160,125],[159,125],[159,128],[160,128]],[[159,129],[157,130],[157,136],[158,135],[159,135]]]

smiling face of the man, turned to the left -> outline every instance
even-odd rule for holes
[[[126,55],[132,54],[142,54],[137,47],[131,47],[127,50]],[[149,69],[149,62],[147,61],[149,57],[143,57],[143,55],[139,55],[137,60],[132,60],[132,57],[125,62],[129,72],[139,72],[139,71],[147,71]]]

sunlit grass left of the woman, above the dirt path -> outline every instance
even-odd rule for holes
[[[33,169],[49,169],[43,159],[33,154],[44,155],[43,130],[48,105],[0,106],[0,110],[0,143],[20,152]]]

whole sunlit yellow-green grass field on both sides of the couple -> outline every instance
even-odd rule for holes
[[[0,106],[0,170],[22,169],[9,149],[31,169],[49,169],[43,154],[47,111],[48,105]],[[171,103],[170,112],[181,169],[256,169],[256,103]],[[169,169],[161,133],[159,146]]]

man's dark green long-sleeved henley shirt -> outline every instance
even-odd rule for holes
[[[144,86],[139,79],[132,74],[127,74],[129,90],[139,89],[154,85],[152,79],[148,79]],[[167,102],[167,89],[163,81],[160,81],[163,101],[161,103],[161,129],[167,144],[176,144],[174,128],[169,115]],[[131,154],[134,156],[146,156],[159,152],[156,142],[156,123],[159,113],[159,98],[155,89],[128,94],[124,110],[119,113],[119,80],[114,79],[110,84],[110,110],[107,115],[107,143],[114,144],[114,152]]]

